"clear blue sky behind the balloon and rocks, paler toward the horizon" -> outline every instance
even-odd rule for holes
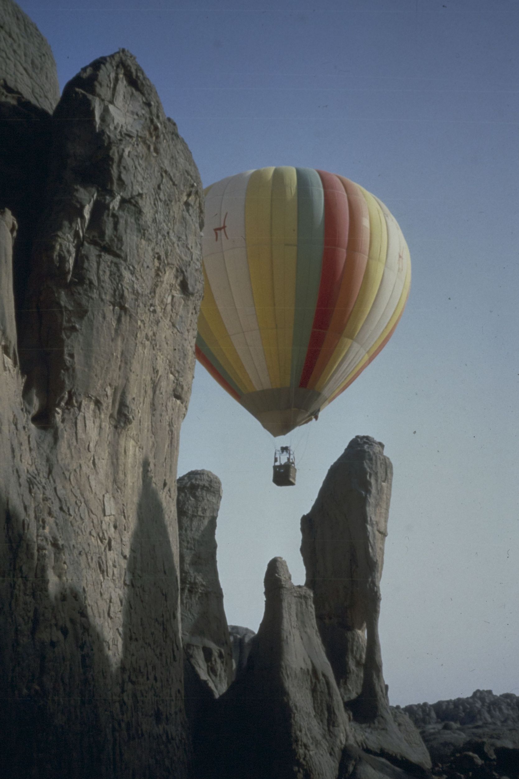
[[[223,482],[228,621],[258,628],[273,556],[303,583],[300,516],[349,439],[373,435],[395,469],[380,618],[391,703],[519,694],[517,2],[20,5],[61,86],[132,51],[204,185],[323,168],[382,199],[408,241],[394,337],[317,423],[277,439],[295,446],[296,488],[271,484],[274,439],[197,367],[179,474]]]

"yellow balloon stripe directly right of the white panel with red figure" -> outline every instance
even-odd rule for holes
[[[282,386],[279,375],[278,339],[275,323],[272,269],[272,178],[274,167],[261,167],[251,174],[245,198],[245,239],[252,294],[261,343],[273,388]]]

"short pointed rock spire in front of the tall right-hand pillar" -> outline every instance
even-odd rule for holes
[[[286,562],[265,574],[265,615],[247,665],[217,701],[207,777],[335,779],[348,732],[315,623],[312,594]]]

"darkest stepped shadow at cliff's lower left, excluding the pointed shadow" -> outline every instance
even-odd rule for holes
[[[103,638],[77,587],[49,593],[42,550],[26,530],[0,495],[2,775],[104,779],[113,774]]]

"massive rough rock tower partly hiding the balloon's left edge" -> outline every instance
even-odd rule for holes
[[[48,122],[18,330],[17,214],[0,217],[2,768],[182,779],[176,481],[201,183],[126,51],[72,79]]]

